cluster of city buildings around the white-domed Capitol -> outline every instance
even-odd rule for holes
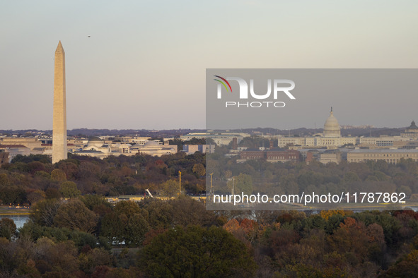
[[[233,139],[231,155],[239,155],[238,162],[248,159],[266,159],[269,162],[317,160],[323,164],[328,162],[366,162],[383,160],[396,164],[400,159],[412,159],[418,162],[418,127],[414,121],[399,135],[382,135],[379,137],[344,137],[334,113],[325,121],[323,133],[306,137],[285,137],[268,135],[270,146],[259,149],[237,147]],[[277,140],[277,147],[272,145]]]

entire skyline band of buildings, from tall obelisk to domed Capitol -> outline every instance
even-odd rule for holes
[[[343,126],[349,128],[370,128],[371,126]],[[314,159],[322,162],[339,163],[344,159],[348,162],[364,162],[367,160],[384,160],[396,164],[400,159],[418,161],[418,127],[412,121],[409,128],[399,135],[379,137],[344,137],[341,126],[330,111],[325,121],[323,133],[305,137],[267,135],[270,145],[266,149],[246,149],[238,147],[248,133],[214,132],[189,133],[182,135],[181,140],[205,138],[209,145],[184,145],[183,152],[214,152],[216,145],[231,144],[230,156],[239,155],[238,162],[248,159],[266,159],[268,162],[306,161]],[[54,107],[52,138],[48,137],[0,137],[0,164],[10,162],[16,155],[50,155],[52,163],[67,158],[68,152],[76,155],[88,155],[104,158],[110,155],[170,155],[178,152],[178,145],[170,145],[168,140],[151,140],[147,137],[110,138],[69,138],[66,135],[66,84],[65,84],[65,52],[61,42],[55,51],[54,59]],[[273,142],[277,140],[277,146]]]

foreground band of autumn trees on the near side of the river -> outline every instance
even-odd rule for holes
[[[418,213],[207,211],[187,196],[45,199],[0,221],[4,277],[414,277]]]

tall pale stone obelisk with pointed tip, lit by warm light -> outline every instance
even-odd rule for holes
[[[52,164],[66,158],[65,52],[59,41],[55,50]]]

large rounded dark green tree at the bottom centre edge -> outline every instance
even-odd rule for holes
[[[176,226],[155,236],[139,265],[152,277],[253,277],[256,269],[244,244],[216,226]]]

